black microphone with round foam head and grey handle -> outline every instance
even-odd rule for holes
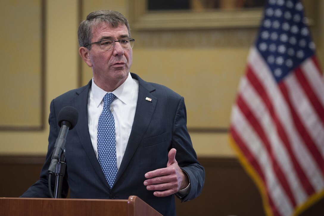
[[[51,165],[48,168],[49,173],[54,173],[56,164],[61,158],[64,150],[67,132],[75,127],[78,122],[78,111],[72,106],[65,106],[58,114],[58,125],[61,127],[58,138],[55,141],[55,146],[52,154]]]

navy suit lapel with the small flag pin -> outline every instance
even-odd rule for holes
[[[138,99],[132,131],[129,136],[127,147],[121,161],[115,182],[118,181],[119,177],[124,172],[125,168],[133,157],[133,154],[137,149],[140,141],[142,140],[144,133],[151,121],[157,102],[157,98],[151,94],[151,92],[155,90],[152,85],[145,82],[135,74],[132,74],[132,78],[135,78],[139,81]],[[146,100],[146,97],[152,100],[148,101]]]

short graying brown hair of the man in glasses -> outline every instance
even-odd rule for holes
[[[92,30],[94,27],[107,23],[113,28],[117,28],[119,25],[125,25],[129,37],[131,37],[131,30],[127,18],[121,13],[113,10],[97,10],[89,13],[86,20],[83,20],[78,28],[78,40],[79,46],[85,46],[91,42]],[[91,49],[91,46],[88,46]]]

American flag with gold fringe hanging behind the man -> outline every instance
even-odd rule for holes
[[[296,215],[324,197],[324,78],[299,0],[268,0],[230,135],[267,215]]]

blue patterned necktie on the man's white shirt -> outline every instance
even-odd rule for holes
[[[117,175],[115,120],[110,104],[116,98],[107,93],[103,100],[103,110],[98,121],[98,161],[110,187]]]

